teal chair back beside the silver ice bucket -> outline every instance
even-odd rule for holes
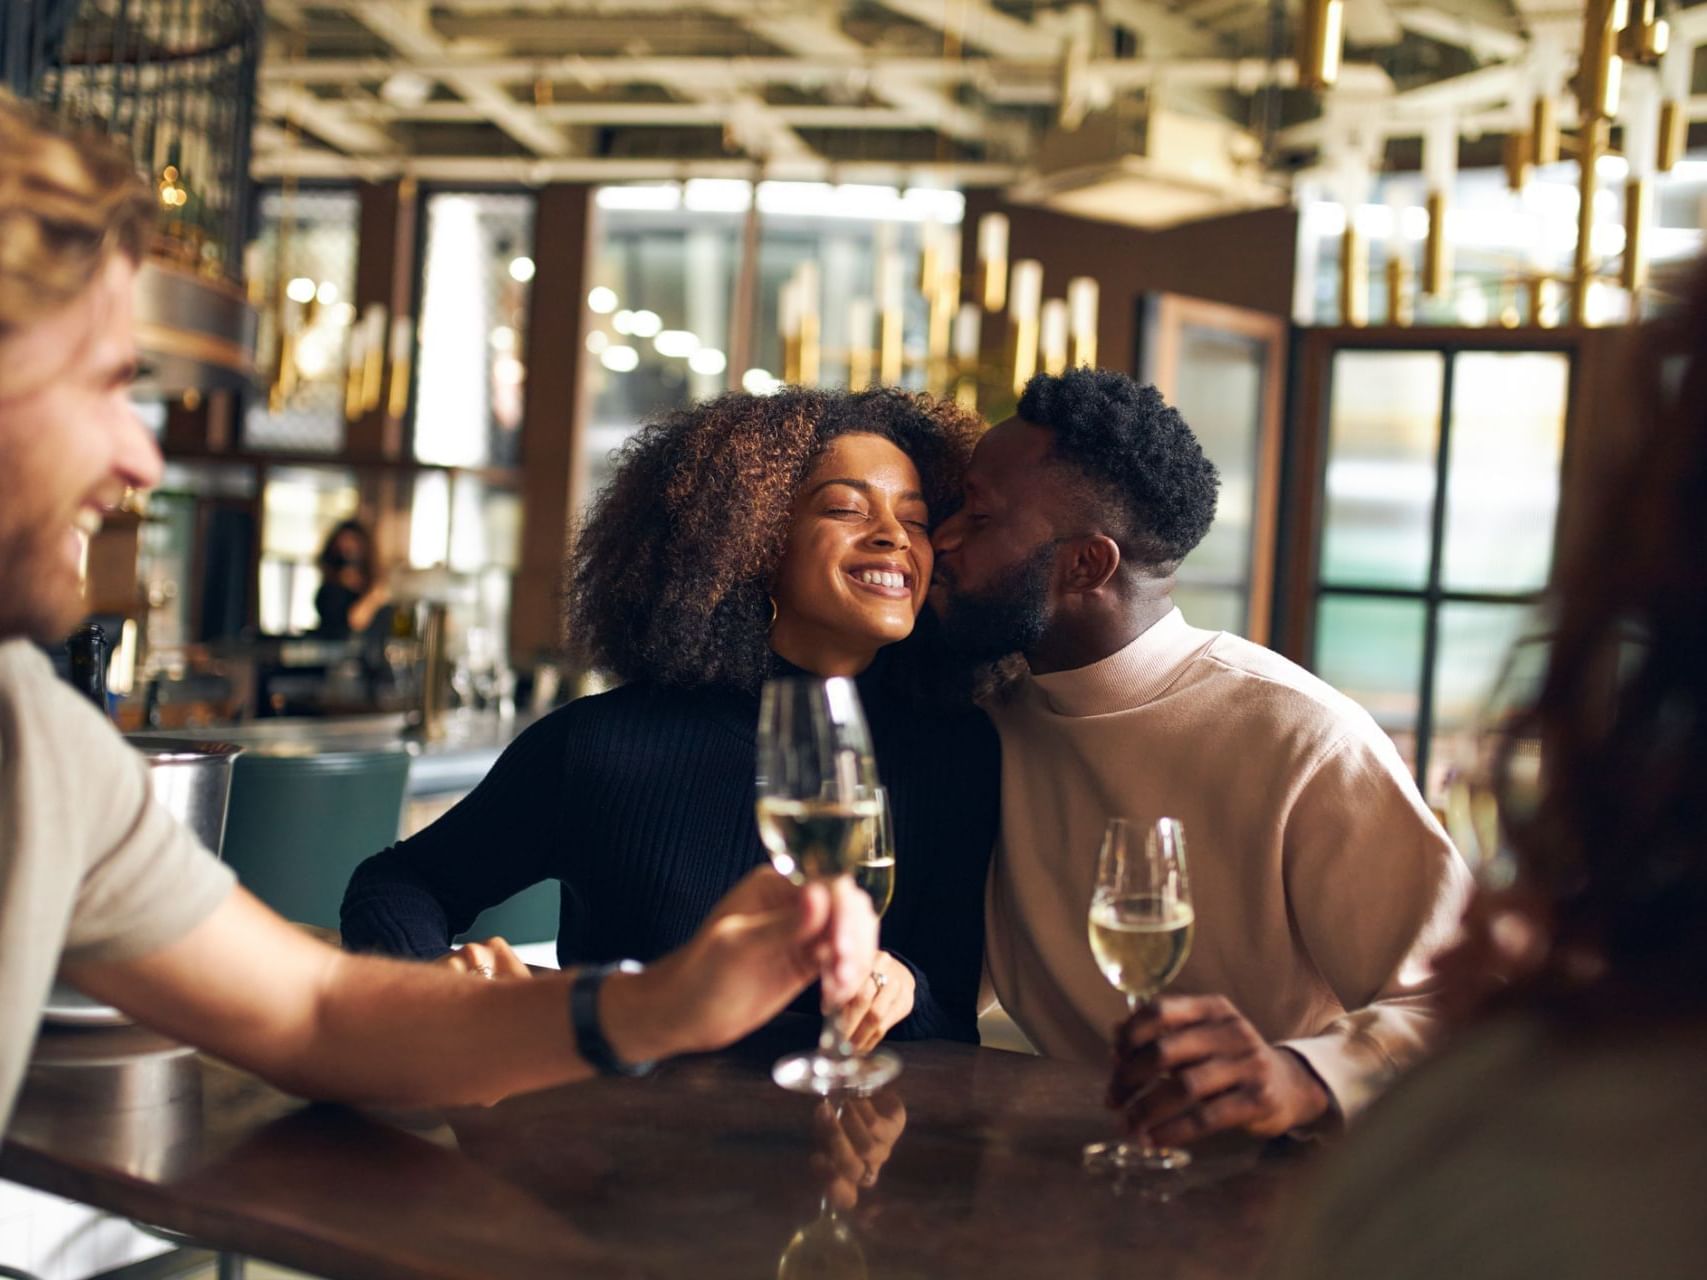
[[[246,748],[230,778],[225,862],[285,920],[336,932],[350,872],[398,838],[408,778],[401,748]]]

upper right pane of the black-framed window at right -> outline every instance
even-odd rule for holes
[[[1453,365],[1446,473],[1448,591],[1547,585],[1570,362],[1555,352],[1465,352]]]

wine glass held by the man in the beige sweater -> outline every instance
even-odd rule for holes
[[[1139,845],[1125,817],[1110,817],[1091,893],[1091,954],[1128,1010],[1154,1000],[1185,966],[1195,920],[1180,819],[1159,817]],[[1156,1147],[1140,1133],[1135,1142],[1092,1142],[1084,1162],[1099,1172],[1183,1169],[1191,1154]]]

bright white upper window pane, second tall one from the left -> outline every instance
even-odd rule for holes
[[[521,461],[533,196],[427,200],[415,457],[440,466]]]

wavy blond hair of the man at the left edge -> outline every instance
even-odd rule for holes
[[[67,305],[108,254],[140,261],[154,213],[125,152],[0,90],[0,338]]]

